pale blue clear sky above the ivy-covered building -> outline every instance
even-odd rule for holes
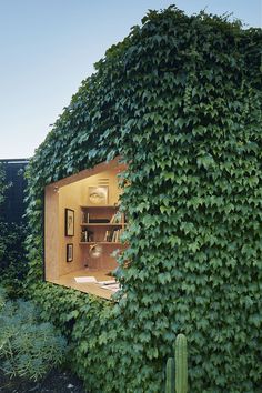
[[[262,0],[0,0],[0,159],[32,157],[93,63],[172,3],[262,24]]]

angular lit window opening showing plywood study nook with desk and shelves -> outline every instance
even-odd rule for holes
[[[47,281],[111,298],[118,266],[112,253],[127,246],[120,241],[127,222],[118,183],[124,169],[115,159],[46,187]]]

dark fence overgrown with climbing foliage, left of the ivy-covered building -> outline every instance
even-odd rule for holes
[[[23,245],[27,231],[22,219],[24,180],[22,173],[19,174],[24,165],[0,162],[0,283],[10,296],[21,294],[28,272]]]

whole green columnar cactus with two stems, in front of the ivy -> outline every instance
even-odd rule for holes
[[[175,359],[175,360],[174,360]],[[169,357],[165,367],[165,393],[188,392],[187,337],[179,334],[175,339],[174,359]]]

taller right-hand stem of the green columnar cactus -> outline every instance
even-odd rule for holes
[[[175,339],[175,392],[188,392],[188,351],[187,337],[179,334]]]

